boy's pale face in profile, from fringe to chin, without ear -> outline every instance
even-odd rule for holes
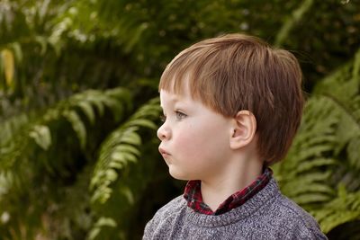
[[[175,179],[204,181],[224,171],[232,119],[193,100],[188,92],[160,91],[166,120],[157,130],[158,148]]]

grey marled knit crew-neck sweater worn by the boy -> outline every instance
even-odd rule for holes
[[[327,239],[318,223],[281,194],[274,179],[243,205],[213,216],[179,196],[159,209],[143,239]]]

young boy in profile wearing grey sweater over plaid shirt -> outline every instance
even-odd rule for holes
[[[184,195],[159,209],[143,239],[327,239],[279,191],[302,117],[302,71],[288,51],[241,34],[202,40],[166,67],[159,151]]]

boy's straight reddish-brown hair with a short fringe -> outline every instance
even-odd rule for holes
[[[194,100],[226,117],[251,111],[259,155],[266,164],[284,158],[304,102],[302,70],[292,53],[243,34],[202,40],[167,65],[159,90],[181,94],[186,84]]]

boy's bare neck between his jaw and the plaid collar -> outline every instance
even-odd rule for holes
[[[263,161],[254,157],[252,159],[236,159],[229,164],[219,176],[202,180],[202,200],[212,211],[233,193],[240,191],[254,182],[263,171]]]

